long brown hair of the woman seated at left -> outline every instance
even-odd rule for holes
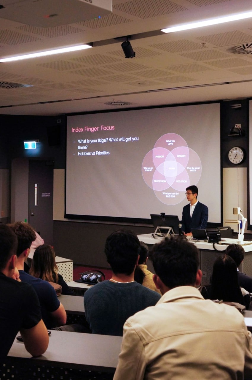
[[[39,245],[35,249],[29,274],[42,280],[58,282],[55,252],[50,245]]]

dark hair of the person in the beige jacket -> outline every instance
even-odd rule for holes
[[[195,285],[199,252],[194,244],[175,237],[165,237],[154,245],[150,260],[156,274],[168,288]]]

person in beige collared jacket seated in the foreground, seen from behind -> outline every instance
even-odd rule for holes
[[[198,256],[184,240],[154,245],[153,279],[163,296],[124,324],[113,380],[252,378],[244,317],[235,307],[203,299],[196,289],[202,279]]]

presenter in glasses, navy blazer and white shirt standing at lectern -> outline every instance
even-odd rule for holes
[[[197,200],[198,188],[195,185],[186,188],[186,198],[190,204],[183,207],[182,231],[186,236],[191,236],[192,228],[205,230],[208,221],[208,207]]]

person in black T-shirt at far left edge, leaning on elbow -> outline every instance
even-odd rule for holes
[[[25,282],[14,275],[17,262],[17,237],[6,225],[0,225],[0,369],[16,338],[24,340],[32,356],[42,355],[49,337],[41,317],[38,296]]]

